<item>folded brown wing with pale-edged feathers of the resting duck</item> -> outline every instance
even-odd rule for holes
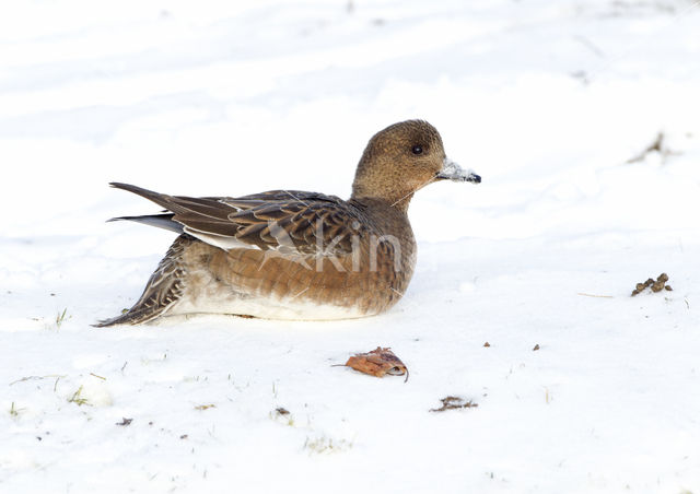
[[[163,214],[121,216],[187,233],[224,250],[257,248],[281,254],[334,256],[352,251],[369,228],[361,209],[336,196],[271,190],[240,198],[167,196],[129,184],[109,184],[149,199]]]

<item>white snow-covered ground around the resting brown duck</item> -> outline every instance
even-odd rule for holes
[[[699,26],[689,0],[5,3],[0,492],[697,494]],[[154,211],[108,181],[347,197],[417,117],[483,183],[417,195],[388,314],[90,327],[173,239],[105,224]],[[408,383],[331,367],[377,345]],[[478,408],[430,412],[451,395]]]

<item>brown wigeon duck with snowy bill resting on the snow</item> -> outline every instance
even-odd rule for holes
[[[179,235],[133,307],[96,326],[202,313],[299,320],[383,313],[416,266],[408,204],[438,180],[481,177],[445,156],[433,126],[408,120],[370,139],[347,201],[298,190],[190,198],[110,184],[167,210],[114,220]]]

